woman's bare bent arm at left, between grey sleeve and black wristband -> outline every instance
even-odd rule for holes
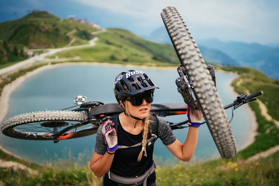
[[[114,153],[110,152],[110,153]],[[90,169],[97,177],[102,177],[108,170],[113,162],[114,154],[105,153],[104,155],[99,155],[94,152],[91,162],[90,162]]]

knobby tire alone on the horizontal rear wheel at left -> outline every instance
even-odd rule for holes
[[[51,138],[44,138],[42,133],[36,133],[35,135],[28,135],[28,132],[22,131],[15,132],[14,127],[24,124],[30,124],[34,122],[48,122],[48,121],[66,121],[66,122],[81,122],[86,119],[85,113],[75,111],[41,111],[16,115],[7,118],[1,124],[1,131],[4,135],[18,139],[29,140],[53,140]],[[72,138],[83,137],[90,135],[88,133],[79,134]]]

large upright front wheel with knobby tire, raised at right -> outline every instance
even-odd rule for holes
[[[234,157],[237,153],[235,139],[197,44],[175,7],[163,9],[161,16],[188,80],[193,82],[193,94],[221,157]]]

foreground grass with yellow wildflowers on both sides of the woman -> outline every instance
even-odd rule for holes
[[[173,167],[157,166],[156,184],[168,185],[278,185],[279,152],[257,161],[236,160],[176,164]],[[1,167],[0,185],[92,185],[102,184],[87,165],[60,160],[45,166],[33,167],[38,174]]]

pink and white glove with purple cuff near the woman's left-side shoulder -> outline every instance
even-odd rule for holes
[[[104,135],[108,151],[115,151],[118,148],[116,130],[112,127],[112,125],[114,125],[112,121],[106,121],[102,126],[102,133]]]

